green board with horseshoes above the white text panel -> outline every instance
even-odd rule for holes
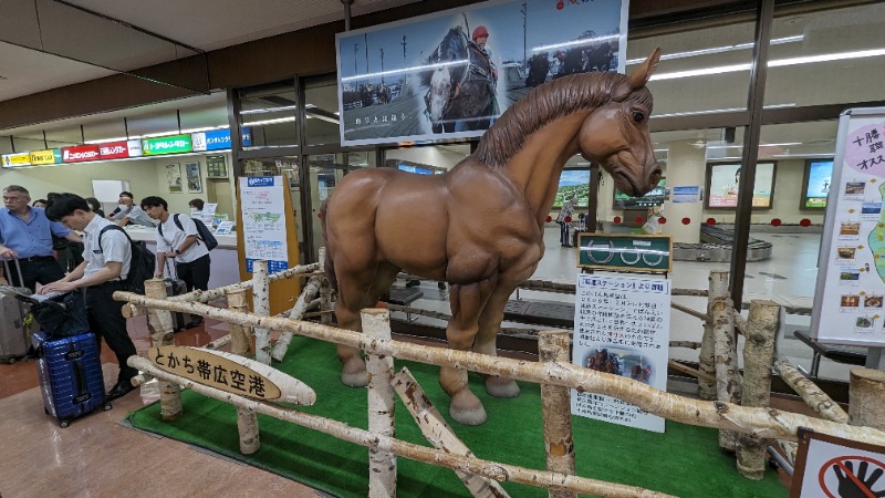
[[[614,271],[673,271],[670,236],[579,234],[577,266]]]

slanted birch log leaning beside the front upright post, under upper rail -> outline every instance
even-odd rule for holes
[[[394,391],[403,400],[403,404],[412,414],[412,418],[418,424],[424,437],[434,445],[437,449],[451,453],[454,455],[461,455],[472,457],[473,452],[467,447],[464,442],[458,439],[455,430],[449,427],[439,411],[430,404],[430,398],[424,394],[424,390],[418,382],[412,376],[412,373],[405,366],[393,380]],[[461,483],[467,489],[477,498],[504,498],[509,497],[507,491],[494,479],[478,476],[475,474],[467,474],[456,469],[455,474],[461,479]]]

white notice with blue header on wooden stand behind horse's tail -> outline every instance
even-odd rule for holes
[[[250,273],[252,263],[262,259],[271,273],[289,268],[283,188],[282,176],[240,178],[246,271]]]

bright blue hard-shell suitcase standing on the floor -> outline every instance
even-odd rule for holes
[[[67,427],[100,406],[111,409],[104,401],[101,351],[94,333],[49,339],[40,331],[32,339],[40,354],[37,369],[43,405],[59,425]]]

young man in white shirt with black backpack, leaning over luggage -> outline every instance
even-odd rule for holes
[[[107,400],[116,400],[133,391],[132,378],[138,374],[126,360],[136,354],[135,344],[126,331],[126,319],[121,313],[121,303],[113,294],[128,290],[133,249],[132,240],[123,229],[92,212],[86,200],[75,194],[60,194],[50,200],[46,216],[61,221],[67,228],[84,232],[84,261],[63,279],[44,286],[40,293],[82,292],[85,294],[90,330],[114,352],[119,364],[117,383],[107,393]],[[114,227],[108,229],[107,227]],[[149,278],[149,277],[148,277]]]

